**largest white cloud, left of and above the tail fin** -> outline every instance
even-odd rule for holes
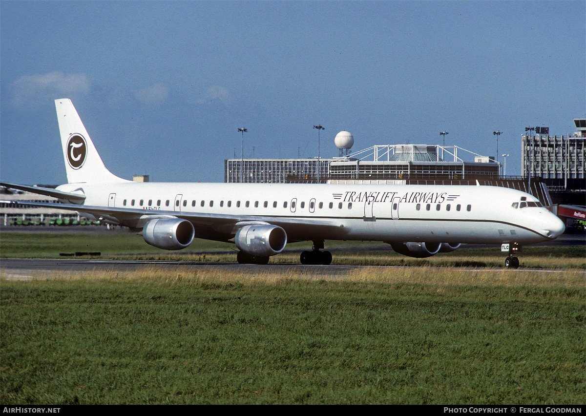
[[[90,92],[90,81],[84,74],[62,72],[23,75],[8,86],[12,103],[18,107],[45,104],[57,98],[76,98]]]

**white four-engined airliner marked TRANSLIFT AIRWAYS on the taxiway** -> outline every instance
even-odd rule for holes
[[[505,265],[518,267],[513,254],[522,244],[564,232],[536,197],[497,186],[132,182],[105,168],[71,101],[55,104],[68,183],[2,185],[55,196],[64,204],[30,205],[127,226],[166,250],[188,247],[195,237],[231,241],[240,263],[266,264],[288,241],[312,241],[301,262],[330,264],[326,240],[384,241],[411,257],[461,243],[502,244],[509,247]]]

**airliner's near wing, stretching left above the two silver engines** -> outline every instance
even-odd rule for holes
[[[130,224],[130,226],[135,228],[142,228],[147,221],[152,219],[175,217],[190,221],[196,229],[207,230],[208,233],[217,231],[217,233],[224,235],[234,234],[241,226],[258,222],[282,227],[282,229],[287,232],[289,241],[306,240],[306,234],[311,233],[311,235],[315,235],[316,232],[322,233],[324,236],[335,235],[338,237],[343,237],[347,233],[347,229],[340,226],[340,221],[336,220],[144,210],[137,208],[114,208],[52,202],[29,202],[22,200],[2,200],[0,202],[6,203],[8,206],[9,204],[18,204],[19,206],[52,207],[89,213],[97,219],[106,220],[114,224]]]

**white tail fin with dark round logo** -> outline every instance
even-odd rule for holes
[[[69,98],[55,100],[67,182],[130,182],[108,171]]]

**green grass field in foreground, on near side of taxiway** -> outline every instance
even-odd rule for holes
[[[1,284],[3,404],[581,404],[584,273],[149,268]]]

